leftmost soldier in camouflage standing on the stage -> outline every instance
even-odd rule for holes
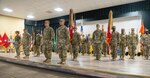
[[[15,57],[20,58],[21,37],[19,35],[19,31],[16,31],[15,34],[16,34],[16,36],[15,36],[15,49],[16,49],[16,53],[17,53],[17,56],[15,56]]]

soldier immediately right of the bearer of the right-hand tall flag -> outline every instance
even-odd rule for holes
[[[127,35],[125,34],[125,29],[121,29],[119,48],[120,48],[120,60],[124,60],[125,49],[127,46]]]

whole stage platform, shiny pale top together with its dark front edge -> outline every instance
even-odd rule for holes
[[[44,68],[48,70],[66,72],[87,77],[104,77],[104,78],[150,78],[150,60],[144,60],[142,56],[135,57],[135,60],[125,57],[124,61],[117,59],[111,61],[111,57],[102,57],[101,61],[95,60],[93,55],[79,54],[78,61],[72,61],[71,55],[68,54],[65,65],[57,64],[60,59],[58,54],[52,54],[51,64],[44,64],[44,55],[34,57],[30,53],[29,60],[24,60],[21,53],[21,59],[14,58],[15,53],[0,53],[0,60],[21,65]]]

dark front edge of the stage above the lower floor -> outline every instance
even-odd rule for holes
[[[68,74],[73,74],[73,75],[85,76],[85,77],[89,77],[89,78],[103,77],[103,76],[101,76],[100,73],[107,73],[107,74],[110,74],[110,75],[113,74],[113,75],[117,75],[117,76],[132,76],[132,77],[142,77],[142,78],[150,77],[150,76],[141,76],[141,75],[131,75],[131,74],[122,74],[122,73],[119,74],[119,73],[112,73],[112,72],[104,72],[104,71],[98,71],[98,70],[88,70],[88,69],[84,69],[84,68],[68,67],[68,66],[64,66],[64,65],[47,65],[47,64],[28,61],[28,60],[18,60],[18,59],[12,59],[12,58],[1,57],[1,56],[0,56],[0,61],[19,64],[19,65],[25,65],[25,66],[30,66],[30,67],[42,68],[42,69],[52,70],[52,71],[56,71],[56,72],[62,72],[62,73],[68,73]]]

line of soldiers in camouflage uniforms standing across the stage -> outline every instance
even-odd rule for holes
[[[41,37],[40,34],[36,34],[36,37],[32,37],[35,39],[34,41],[34,51],[37,53],[36,56],[40,55],[40,46],[42,45],[42,52],[44,52],[45,55],[45,60],[43,61],[44,63],[50,63],[51,62],[51,57],[52,57],[52,49],[53,49],[53,40],[55,37],[55,32],[52,27],[49,26],[50,22],[46,20],[44,22],[44,32],[43,36]],[[69,39],[69,31],[68,28],[65,26],[65,20],[60,19],[59,21],[60,27],[56,30],[56,37],[57,37],[57,52],[59,53],[59,58],[60,62],[59,64],[65,64],[66,63],[66,58],[67,58],[67,50],[68,50],[68,45],[70,44],[70,39]],[[108,51],[108,44],[106,43],[106,33],[104,33],[102,30],[100,30],[100,25],[96,25],[96,30],[93,32],[93,37],[91,39],[92,45],[93,45],[93,53],[96,56],[96,60],[100,60],[102,53],[106,56],[107,51]],[[20,57],[20,51],[19,47],[20,44],[23,45],[23,50],[25,54],[25,59],[29,58],[29,48],[31,46],[31,36],[27,32],[27,29],[24,29],[23,33],[23,38],[21,40],[21,37],[19,36],[19,32],[16,31],[16,37],[15,37],[15,48],[16,48],[16,53],[17,53],[17,58]],[[143,37],[142,39],[145,39]],[[143,41],[143,45],[145,40]],[[80,37],[80,34],[77,32],[77,28],[74,28],[74,33],[73,33],[73,38],[71,41],[71,51],[73,53],[73,60],[77,60],[78,53],[79,53],[79,46],[82,43],[82,53],[85,54],[86,48],[89,49],[89,43],[88,45],[86,44],[86,39],[82,39]],[[135,50],[138,44],[138,36],[137,34],[134,33],[134,29],[131,30],[131,34],[126,35],[125,30],[121,30],[121,34],[119,34],[116,31],[116,27],[112,27],[112,38],[110,40],[110,49],[111,49],[111,55],[112,55],[112,60],[116,60],[117,58],[117,50],[118,48],[120,49],[120,59],[124,60],[125,56],[125,49],[128,47],[129,49],[129,54],[130,58],[134,59],[135,56]],[[147,50],[147,49],[146,49]],[[89,52],[89,51],[88,51]]]

